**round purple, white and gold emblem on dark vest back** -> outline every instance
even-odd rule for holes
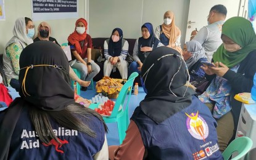
[[[199,115],[198,111],[197,113],[186,113],[186,115],[188,116],[186,126],[189,133],[192,135],[192,137],[199,140],[204,140],[205,142],[205,138],[207,138],[209,135],[209,127],[204,118]]]

